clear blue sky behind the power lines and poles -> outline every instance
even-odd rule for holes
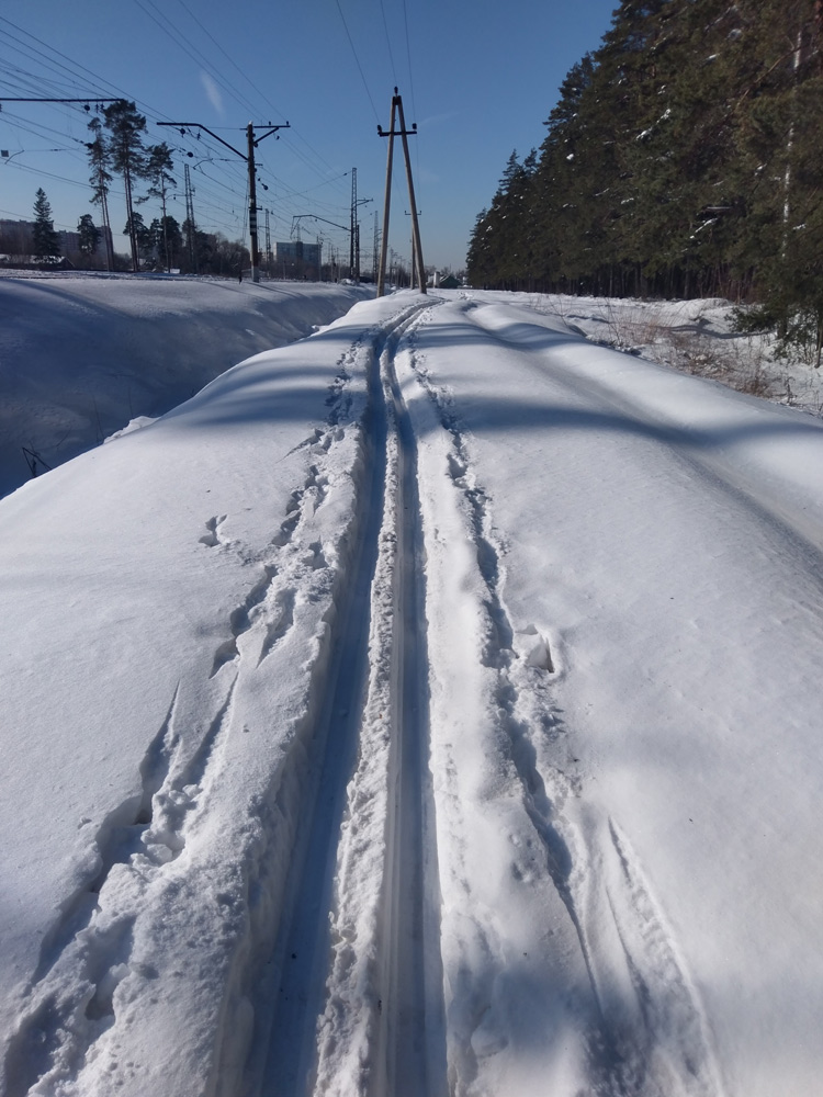
[[[183,162],[192,168],[200,227],[245,235],[246,166],[203,134],[164,121],[201,122],[243,148],[248,122],[291,129],[258,149],[271,239],[288,240],[297,214],[348,225],[357,168],[361,245],[381,214],[393,88],[406,122],[426,263],[461,268],[477,213],[506,160],[544,137],[557,88],[596,49],[617,0],[5,0],[0,14],[0,98],[123,97],[148,120],[148,139],[172,147],[179,181],[169,212],[184,219]],[[31,219],[42,186],[55,226],[74,229],[89,202],[82,105],[2,103],[0,217]],[[188,158],[185,152],[192,151]],[[407,257],[410,212],[395,143],[390,242]],[[224,159],[224,157],[228,159]],[[146,220],[158,215],[151,202]],[[115,247],[125,225],[122,188],[111,199]],[[261,215],[262,217],[262,215]],[[261,220],[260,244],[263,245]],[[348,236],[304,219],[303,239],[348,253]],[[327,253],[327,252],[325,252]]]

